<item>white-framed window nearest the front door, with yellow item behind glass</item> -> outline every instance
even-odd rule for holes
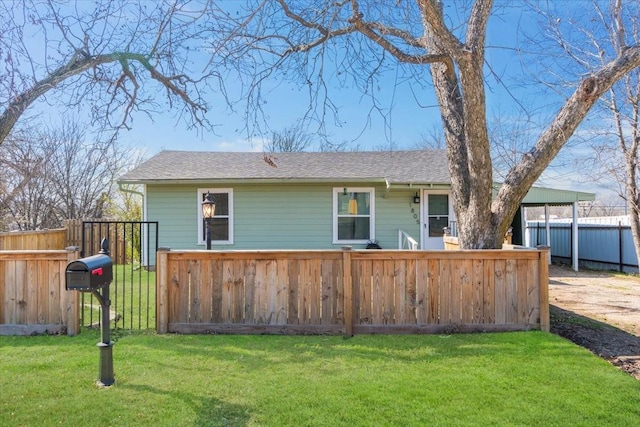
[[[367,243],[375,239],[373,188],[333,189],[333,243]]]

